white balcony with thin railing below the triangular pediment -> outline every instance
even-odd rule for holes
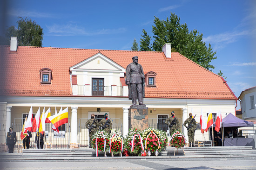
[[[81,96],[128,96],[128,86],[104,86],[104,89],[92,90],[91,85],[72,85],[73,95]]]

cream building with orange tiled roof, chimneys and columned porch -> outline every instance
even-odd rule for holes
[[[15,41],[12,38],[11,46],[0,46],[1,124],[5,130],[13,126],[19,132],[18,125],[31,106],[33,113],[39,107],[51,107],[52,115],[55,107],[68,107],[69,123],[64,130],[70,137],[67,142],[88,145],[84,124],[91,113],[99,117],[108,113],[113,128],[128,134],[132,102],[128,100],[125,68],[134,56],[138,56],[145,73],[144,102],[150,127],[168,132],[164,121],[175,111],[187,135],[182,124],[191,112],[197,114],[197,122],[201,109],[205,119],[210,111],[216,115],[221,110],[222,118],[226,113],[236,113],[237,97],[227,82],[171,52],[171,44],[165,44],[162,52],[153,52],[17,46]],[[1,137],[5,137],[5,130],[0,129]],[[51,128],[49,139],[50,133]],[[200,130],[196,130],[195,140],[202,140]]]

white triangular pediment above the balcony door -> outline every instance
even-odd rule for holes
[[[100,52],[70,67],[70,71],[125,72],[125,69]]]

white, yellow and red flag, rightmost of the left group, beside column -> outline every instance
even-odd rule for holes
[[[59,127],[68,122],[68,108],[65,108],[62,112],[54,114],[49,117],[49,120],[54,124],[55,127]]]

